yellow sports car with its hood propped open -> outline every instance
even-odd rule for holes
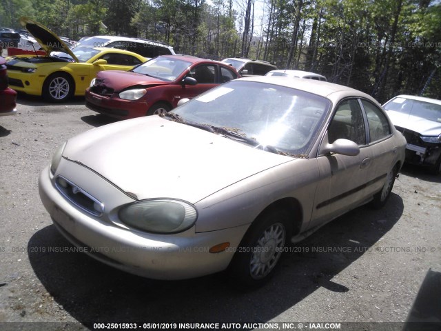
[[[41,24],[21,17],[20,23],[34,36],[48,56],[8,57],[11,88],[41,95],[51,102],[63,102],[84,95],[96,72],[130,70],[147,61],[141,55],[116,48],[78,47],[70,50],[56,34]]]

